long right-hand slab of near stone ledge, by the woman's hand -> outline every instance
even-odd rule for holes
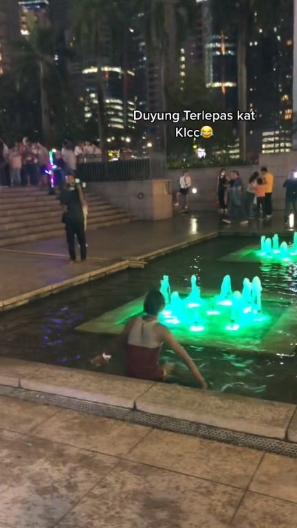
[[[212,391],[155,384],[136,409],[222,429],[284,440],[296,406]]]

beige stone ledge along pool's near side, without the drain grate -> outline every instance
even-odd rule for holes
[[[0,358],[0,384],[297,443],[297,408],[176,385]]]

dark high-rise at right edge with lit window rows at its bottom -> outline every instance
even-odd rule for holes
[[[267,32],[254,13],[254,33],[248,48],[248,107],[256,111],[248,137],[250,151],[292,150],[293,122],[293,1],[278,24]]]

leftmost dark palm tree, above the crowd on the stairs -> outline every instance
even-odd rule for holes
[[[52,28],[35,26],[28,37],[22,37],[14,43],[13,52],[17,89],[21,90],[24,79],[30,80],[33,85],[37,79],[43,142],[50,146],[54,132],[50,117],[47,81],[51,75],[56,74]]]

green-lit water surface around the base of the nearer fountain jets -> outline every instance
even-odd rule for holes
[[[181,303],[185,305],[188,292]],[[163,322],[181,344],[210,347],[231,353],[277,353],[289,355],[296,345],[297,306],[280,300],[279,296],[263,298],[263,312],[254,309],[232,322],[232,306],[217,305],[213,291],[203,290],[201,306],[179,310],[164,309]],[[141,316],[144,296],[134,299],[90,321],[76,330],[118,335],[133,316]],[[215,313],[214,313],[215,312]],[[219,312],[219,314],[217,314]]]

